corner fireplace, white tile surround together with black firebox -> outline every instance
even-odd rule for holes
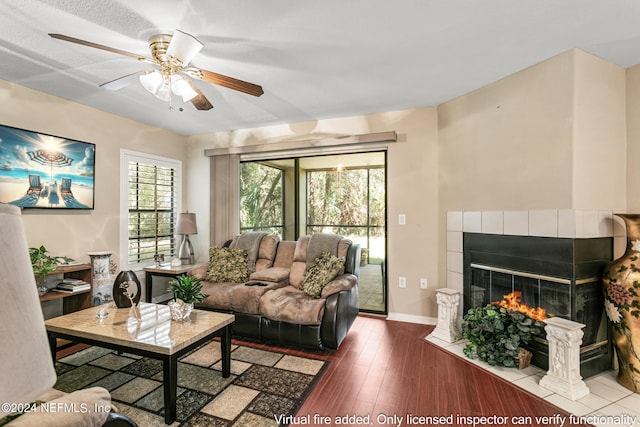
[[[447,228],[447,287],[464,301],[458,321],[468,308],[521,290],[532,307],[586,325],[583,376],[610,368],[599,275],[612,259],[612,236],[622,234],[621,250],[626,243],[611,211],[449,212]],[[546,341],[532,342],[529,350],[532,363],[546,369]]]

